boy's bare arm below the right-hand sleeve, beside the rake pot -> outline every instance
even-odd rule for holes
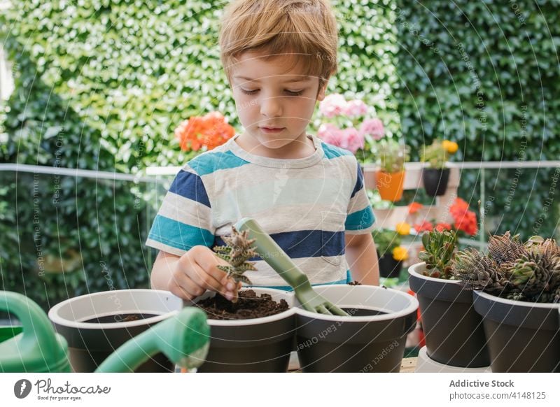
[[[372,234],[344,234],[346,262],[353,280],[365,285],[379,285],[379,264]]]

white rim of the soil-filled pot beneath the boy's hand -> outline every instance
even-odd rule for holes
[[[264,288],[264,287],[262,288],[241,287],[241,290],[253,290],[257,294],[279,295],[280,297],[284,297],[284,299],[286,299],[289,308],[285,311],[282,311],[281,313],[269,315],[267,317],[249,318],[246,320],[212,320],[211,318],[208,318],[207,322],[211,327],[246,327],[250,325],[267,324],[269,322],[276,322],[279,320],[283,320],[284,318],[291,317],[292,315],[295,314],[295,305],[294,305],[295,296],[293,292],[278,290],[276,288]],[[193,304],[195,304],[196,301],[200,301],[201,299],[206,299],[209,297],[214,297],[215,295],[216,292],[207,291],[201,296],[194,299],[193,301],[184,301],[184,304],[185,306],[193,306]]]

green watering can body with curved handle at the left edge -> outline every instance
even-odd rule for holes
[[[70,371],[68,344],[55,333],[41,307],[22,294],[0,291],[0,311],[14,315],[22,324],[20,334],[0,342],[0,372]]]

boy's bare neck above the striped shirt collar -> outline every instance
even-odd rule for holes
[[[237,143],[239,147],[250,154],[274,159],[306,158],[313,155],[316,150],[313,140],[311,140],[306,133],[302,133],[300,137],[282,148],[266,148],[264,145],[255,142],[254,139],[246,133],[239,134],[239,136],[235,138],[234,143]]]

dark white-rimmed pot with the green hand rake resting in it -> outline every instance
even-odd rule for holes
[[[297,356],[304,372],[398,372],[418,301],[370,285],[323,285],[316,292],[353,316],[298,307]]]

